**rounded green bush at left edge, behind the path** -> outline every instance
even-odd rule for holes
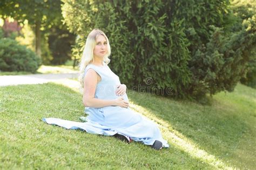
[[[0,39],[1,71],[35,73],[40,63],[39,57],[26,46],[19,45],[17,41],[9,38]]]

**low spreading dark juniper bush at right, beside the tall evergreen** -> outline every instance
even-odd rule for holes
[[[256,42],[255,23],[247,25],[232,36],[225,36],[223,29],[212,26],[210,42],[202,45],[190,61],[193,73],[191,87],[187,93],[192,96],[215,94],[222,90],[233,91],[241,77],[248,71],[247,64],[253,59]],[[202,80],[202,81],[198,81]]]

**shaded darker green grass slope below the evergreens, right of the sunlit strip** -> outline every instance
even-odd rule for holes
[[[225,98],[223,94],[217,95],[212,99],[211,105],[171,100],[150,94],[130,93],[129,98],[134,110],[158,120],[157,123],[161,126],[171,125],[168,127],[169,131],[177,134],[179,138],[188,139],[188,143],[214,155],[225,164],[230,164],[232,154],[237,150],[240,141],[244,140],[245,134],[253,134],[255,131],[253,124],[248,124],[248,119],[253,118],[255,105],[252,107],[253,103],[248,102],[248,95],[246,99],[240,98],[237,102],[234,100],[239,98],[240,92],[234,95],[229,98]],[[251,117],[248,118],[248,115]],[[251,144],[253,139],[255,140],[255,136],[251,137]],[[249,145],[246,152],[250,156],[253,153]],[[241,164],[239,155],[232,159],[232,164],[238,167],[254,165],[253,159],[244,159],[245,162]]]

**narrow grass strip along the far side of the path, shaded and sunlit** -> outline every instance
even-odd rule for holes
[[[36,71],[36,74],[58,74],[58,73],[76,73],[78,71],[78,67],[73,69],[73,66],[65,66],[65,65],[58,65],[58,66],[45,66],[42,65]],[[1,72],[1,75],[25,75],[25,74],[33,74],[30,72]]]

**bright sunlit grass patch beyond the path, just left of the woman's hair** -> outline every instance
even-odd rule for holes
[[[60,65],[60,66],[40,66],[37,70],[37,72],[39,73],[77,73],[78,69],[75,68],[73,69],[72,66],[64,66],[64,65]]]

